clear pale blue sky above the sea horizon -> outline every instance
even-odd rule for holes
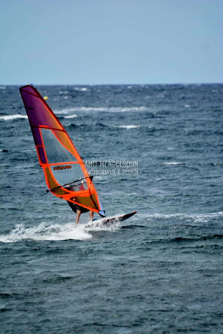
[[[0,83],[223,82],[223,0],[1,0]]]

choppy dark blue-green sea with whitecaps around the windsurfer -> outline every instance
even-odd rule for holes
[[[223,84],[35,87],[106,216],[137,213],[76,225],[0,86],[0,333],[223,333]]]

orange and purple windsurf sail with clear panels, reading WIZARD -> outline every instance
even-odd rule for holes
[[[19,89],[31,127],[47,192],[105,217],[97,192],[72,141],[39,92]]]

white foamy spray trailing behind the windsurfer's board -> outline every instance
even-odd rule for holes
[[[67,223],[45,225],[44,222],[37,226],[26,227],[24,224],[16,224],[16,226],[9,231],[9,233],[0,235],[0,242],[20,242],[23,240],[34,241],[57,241],[57,240],[89,240],[93,236],[90,232],[95,231],[115,231],[118,226],[105,226],[101,224],[102,219],[97,222],[89,223]]]

